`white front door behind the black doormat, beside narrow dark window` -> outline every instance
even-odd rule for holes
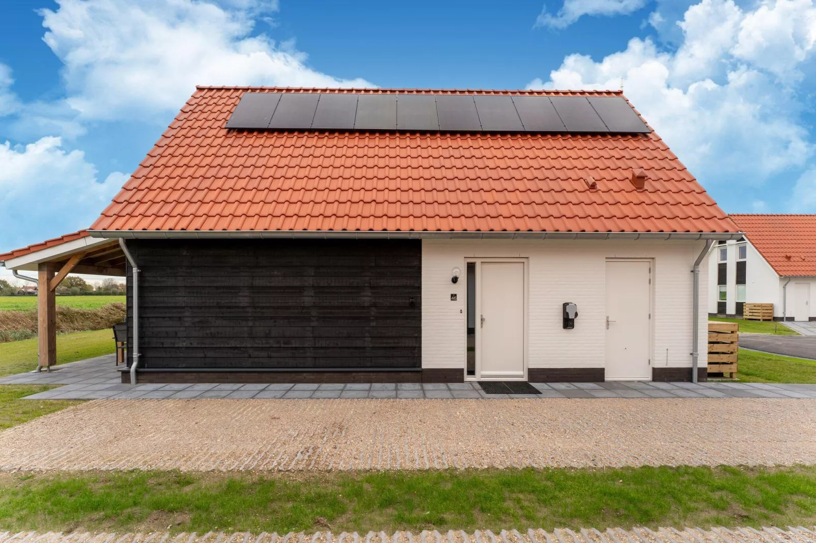
[[[524,263],[482,262],[477,285],[477,378],[524,379]]]

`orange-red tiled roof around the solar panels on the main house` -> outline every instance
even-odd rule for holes
[[[621,95],[198,87],[91,230],[738,231],[654,133],[224,129],[245,91]]]

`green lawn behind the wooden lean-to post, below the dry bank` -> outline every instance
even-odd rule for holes
[[[37,369],[38,338],[0,343],[0,377]],[[110,329],[91,332],[60,333],[56,337],[56,362],[65,364],[116,350]]]

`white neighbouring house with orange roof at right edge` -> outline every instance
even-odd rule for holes
[[[718,241],[709,257],[708,312],[742,316],[743,303],[773,303],[774,320],[816,320],[816,214],[732,214],[745,236]]]

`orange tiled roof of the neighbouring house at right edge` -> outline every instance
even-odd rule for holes
[[[780,276],[816,276],[816,214],[732,214]]]

